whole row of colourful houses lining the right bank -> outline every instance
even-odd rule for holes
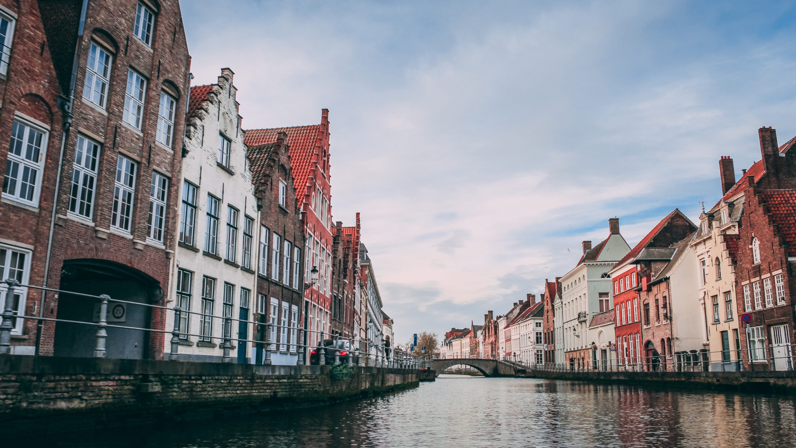
[[[630,247],[583,242],[578,264],[484,325],[451,329],[444,357],[494,357],[571,369],[793,370],[796,137],[759,129],[762,159],[693,223],[673,210]],[[469,352],[464,348],[468,347]]]

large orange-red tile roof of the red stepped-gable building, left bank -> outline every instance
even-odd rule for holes
[[[291,128],[252,129],[246,131],[244,143],[246,146],[256,146],[276,141],[279,132],[287,133],[287,148],[291,156],[291,170],[293,171],[293,185],[296,189],[298,206],[305,200],[306,181],[310,176],[310,168],[315,159],[315,144],[318,139],[320,124],[309,126],[294,126]]]

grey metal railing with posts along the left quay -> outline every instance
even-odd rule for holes
[[[51,322],[64,322],[69,324],[82,324],[92,325],[97,327],[96,344],[92,356],[96,358],[104,358],[107,356],[107,328],[125,328],[131,330],[140,330],[143,332],[154,332],[162,334],[171,334],[170,352],[168,359],[178,361],[180,359],[179,347],[182,340],[189,336],[194,336],[200,340],[220,340],[222,356],[221,360],[224,363],[232,362],[232,343],[251,343],[252,346],[263,348],[263,364],[271,364],[271,354],[275,352],[287,352],[288,354],[297,356],[297,365],[311,364],[312,355],[318,355],[318,364],[349,364],[353,365],[355,358],[358,365],[362,366],[376,366],[376,367],[397,367],[397,368],[421,368],[427,364],[427,361],[421,361],[418,357],[411,352],[404,352],[400,348],[385,348],[378,341],[369,340],[367,338],[345,337],[345,336],[331,336],[323,331],[310,330],[306,328],[291,325],[279,325],[272,323],[263,323],[256,320],[236,319],[232,316],[214,316],[202,312],[194,312],[183,310],[178,305],[173,307],[166,307],[161,305],[144,304],[133,301],[123,301],[119,299],[111,299],[108,295],[92,295],[84,293],[74,293],[72,291],[65,291],[61,289],[45,288],[36,285],[23,285],[15,279],[7,279],[0,283],[6,285],[6,301],[2,312],[2,323],[0,323],[0,355],[8,354],[11,352],[11,332],[14,329],[15,321],[21,320],[39,320]],[[66,320],[40,316],[26,316],[19,312],[14,312],[13,300],[9,297],[14,297],[14,290],[21,288],[41,289],[45,291],[52,291],[55,293],[71,294],[79,297],[88,297],[100,301],[99,321],[86,322],[82,320]],[[107,308],[111,300],[115,303],[123,303],[128,305],[139,305],[148,308],[157,308],[165,310],[166,312],[174,312],[174,325],[171,330],[158,329],[158,328],[140,328],[131,327],[127,325],[109,324],[107,322]],[[201,316],[202,319],[220,320],[222,322],[222,334],[220,337],[208,334],[191,333],[185,328],[181,328],[181,316],[184,314]],[[252,335],[263,335],[260,339],[248,339],[248,337],[232,337],[232,322],[245,322],[252,324]],[[212,325],[211,325],[212,328]],[[318,345],[305,344],[304,341],[308,340],[307,336],[317,336]],[[240,336],[240,335],[239,335]],[[248,336],[248,335],[247,335]],[[328,340],[325,336],[330,336],[330,339],[341,340],[348,343],[347,348],[339,348],[334,346],[324,345],[324,340]],[[354,348],[352,352],[350,348]],[[333,353],[333,360],[326,360],[326,352]],[[314,353],[312,353],[314,352]],[[341,355],[345,352],[345,355]],[[165,355],[165,353],[164,353]]]

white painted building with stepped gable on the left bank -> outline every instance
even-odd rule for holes
[[[253,242],[259,241],[259,216],[233,75],[221,69],[217,84],[191,88],[169,301],[199,314],[181,314],[181,360],[220,361],[224,320],[219,318],[251,320],[249,310],[255,305],[259,257]],[[181,151],[180,145],[174,148]],[[174,312],[169,311],[166,330],[173,328]],[[248,328],[245,334],[239,328],[232,321],[232,338],[252,339],[251,325],[243,327]],[[167,336],[166,358],[170,340]],[[233,340],[232,347],[237,345]],[[233,349],[231,354],[237,362],[248,362],[246,353]]]

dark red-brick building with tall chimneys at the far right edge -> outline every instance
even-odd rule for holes
[[[776,131],[760,128],[761,160],[725,195],[743,195],[736,297],[745,368],[791,370],[796,262],[796,138],[778,147]]]

